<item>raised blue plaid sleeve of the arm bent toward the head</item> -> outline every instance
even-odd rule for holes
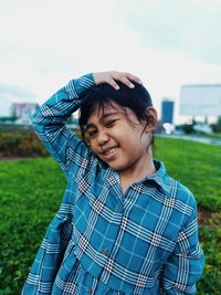
[[[86,146],[67,128],[66,119],[81,105],[84,94],[94,85],[93,74],[86,74],[57,91],[32,116],[32,126],[50,155],[67,173],[70,150],[87,151]],[[82,155],[83,156],[83,155]]]

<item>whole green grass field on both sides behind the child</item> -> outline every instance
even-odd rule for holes
[[[209,218],[200,225],[207,256],[198,294],[220,294],[221,147],[157,138],[155,158],[196,196]],[[0,295],[20,294],[49,222],[59,209],[65,177],[51,158],[0,162]]]

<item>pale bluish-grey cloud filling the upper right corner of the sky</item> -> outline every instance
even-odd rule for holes
[[[141,34],[146,45],[221,64],[221,1],[123,0],[120,4],[128,28]]]

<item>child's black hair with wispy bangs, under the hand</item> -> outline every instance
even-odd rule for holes
[[[85,126],[95,107],[104,109],[106,105],[113,106],[113,102],[119,105],[125,114],[126,108],[131,109],[139,122],[146,122],[146,126],[152,122],[152,117],[147,113],[147,108],[152,106],[148,91],[136,82],[133,82],[135,85],[134,88],[129,88],[120,82],[117,82],[117,84],[119,85],[119,89],[115,89],[107,83],[94,85],[83,97],[80,106],[78,125],[84,140]]]

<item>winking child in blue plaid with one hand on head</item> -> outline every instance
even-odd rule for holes
[[[83,140],[65,126],[77,108]],[[122,72],[73,80],[36,110],[67,187],[23,295],[196,293],[197,203],[152,159],[156,123],[139,78]]]

